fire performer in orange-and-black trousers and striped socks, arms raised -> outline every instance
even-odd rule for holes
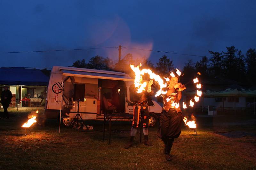
[[[144,83],[142,77],[140,77],[140,83]],[[130,94],[132,94],[131,99],[133,102],[133,121],[130,132],[130,141],[124,147],[125,149],[132,147],[133,139],[137,132],[137,128],[139,127],[140,113],[143,115],[144,144],[150,146],[148,142],[148,99],[153,94],[153,91],[151,91],[152,84],[153,80],[150,80],[145,88],[146,90],[143,90],[141,93],[137,93],[137,89],[135,88],[134,84],[130,86]]]

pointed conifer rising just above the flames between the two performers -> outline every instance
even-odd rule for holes
[[[169,76],[169,71],[173,70],[172,60],[163,55],[159,58],[159,62],[156,63],[156,71],[160,76]]]

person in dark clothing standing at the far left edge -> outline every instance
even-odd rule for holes
[[[7,85],[4,86],[4,91],[1,93],[1,103],[4,107],[4,117],[6,119],[9,119],[9,114],[7,111],[7,108],[9,107],[9,104],[11,103],[12,100],[12,92],[8,90]]]

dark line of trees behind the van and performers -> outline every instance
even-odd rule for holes
[[[256,83],[256,50],[248,49],[245,55],[241,50],[234,46],[226,47],[226,51],[209,51],[211,58],[206,56],[193,63],[188,60],[182,68],[183,78],[191,78],[195,73],[200,72],[202,78],[210,79],[229,79],[237,82],[244,82],[255,85]],[[160,76],[168,76],[169,71],[174,70],[172,60],[163,55],[159,58],[156,65],[148,60],[147,57],[136,58],[132,54],[126,54],[120,61],[113,61],[111,58],[96,55],[88,62],[77,60],[73,63],[74,67],[110,70],[124,72],[132,75],[130,64],[135,66],[142,64],[142,68],[150,68]]]

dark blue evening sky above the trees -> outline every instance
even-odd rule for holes
[[[256,1],[0,1],[0,52],[93,47],[145,48],[207,55],[234,45],[256,48]],[[164,53],[123,49],[122,55]],[[0,54],[1,66],[52,67],[117,49]],[[175,67],[200,57],[171,55]]]

